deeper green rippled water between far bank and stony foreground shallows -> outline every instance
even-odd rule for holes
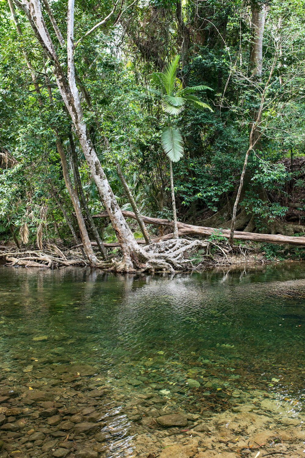
[[[118,395],[150,388],[193,413],[229,409],[236,389],[302,408],[304,264],[174,277],[0,266],[0,300],[0,369],[20,383],[80,363]]]

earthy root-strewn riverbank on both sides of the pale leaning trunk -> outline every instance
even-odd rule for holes
[[[223,240],[205,240],[203,243],[204,250],[201,246],[194,246],[193,248],[187,249],[182,254],[181,259],[174,260],[174,262],[179,263],[179,266],[175,265],[175,270],[177,272],[203,271],[207,268],[219,266],[251,266],[270,262],[300,261],[303,259],[304,254],[304,250],[298,247],[283,247],[281,245],[270,244],[262,245],[251,241],[237,244],[233,247]],[[17,250],[16,247],[2,245],[0,247],[0,262],[11,267],[39,267],[51,269],[71,266],[89,267],[88,260],[83,257],[80,250],[80,247],[71,249],[64,246],[59,247],[54,244],[49,244],[42,250],[35,250],[32,246],[21,247]],[[96,255],[98,255],[98,253],[96,253]],[[113,264],[110,262],[104,265],[103,260],[100,259],[101,265],[99,268],[115,272],[116,263],[118,264],[121,259],[119,252],[110,252],[109,259],[112,260]],[[161,271],[171,273],[171,271],[167,271],[166,268],[161,269]]]

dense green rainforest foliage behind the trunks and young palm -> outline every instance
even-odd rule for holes
[[[139,1],[75,48],[86,123],[120,207],[131,209],[116,162],[140,212],[172,218],[162,148],[166,118],[162,101],[147,97],[153,86],[147,76],[180,54],[177,87],[201,87],[196,97],[213,112],[196,103],[171,112],[184,145],[183,157],[173,164],[178,220],[229,227],[251,123],[264,94],[261,138],[249,156],[236,229],[304,231],[304,7],[296,0],[268,5],[257,80],[250,58],[251,10],[262,7],[257,1]],[[67,5],[60,0],[50,6],[66,40]],[[107,0],[78,1],[75,42],[111,9]],[[54,63],[43,55],[25,15],[18,8],[15,14],[22,36],[9,5],[0,0],[0,237],[14,234],[21,243],[36,240],[40,246],[53,238],[71,239],[67,218],[79,234],[57,137],[74,184],[71,139],[75,143],[90,212],[103,206],[56,86]],[[57,46],[66,71],[66,49]],[[103,220],[97,225],[102,238],[115,240],[111,226]]]

